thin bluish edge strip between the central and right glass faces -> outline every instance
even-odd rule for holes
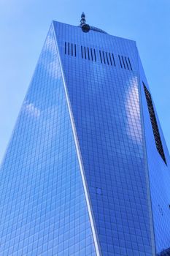
[[[147,198],[149,203],[149,214],[150,214],[150,233],[151,233],[151,245],[152,245],[152,255],[155,256],[156,254],[156,247],[155,247],[155,232],[154,232],[154,222],[153,222],[153,215],[152,215],[152,201],[151,201],[151,192],[150,192],[150,176],[149,176],[149,167],[147,162],[147,143],[145,139],[145,129],[144,129],[144,114],[143,114],[143,104],[142,104],[142,89],[141,89],[141,79],[140,79],[140,72],[139,72],[139,56],[138,50],[136,47],[136,57],[137,57],[137,67],[138,67],[138,79],[139,79],[139,104],[140,104],[140,116],[141,116],[141,123],[142,123],[142,138],[143,138],[143,147],[144,147],[144,165],[146,166],[146,180],[147,180]]]

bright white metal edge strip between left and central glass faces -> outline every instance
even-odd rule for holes
[[[73,132],[73,137],[74,137],[74,143],[75,143],[75,147],[76,147],[76,151],[77,151],[77,158],[78,158],[78,162],[79,162],[79,166],[80,166],[80,174],[82,177],[82,185],[84,188],[84,192],[85,192],[85,200],[87,203],[87,207],[88,207],[88,215],[89,215],[89,219],[90,219],[90,225],[91,225],[91,230],[92,230],[92,234],[93,234],[93,241],[94,241],[94,245],[95,245],[95,249],[96,249],[96,255],[100,256],[101,255],[101,249],[99,247],[99,241],[98,241],[98,237],[96,234],[96,227],[94,225],[94,219],[93,219],[93,212],[91,210],[91,206],[90,206],[90,196],[88,193],[88,188],[87,188],[87,181],[85,178],[85,172],[84,172],[84,168],[83,168],[83,164],[82,164],[82,157],[81,157],[81,153],[80,153],[80,146],[79,146],[79,142],[78,142],[78,138],[77,138],[77,131],[76,131],[76,127],[74,124],[74,116],[72,113],[72,106],[69,100],[69,93],[67,91],[67,86],[66,86],[66,78],[65,75],[63,73],[63,66],[62,66],[62,62],[61,62],[61,56],[60,56],[60,52],[59,52],[59,48],[58,48],[58,41],[57,41],[57,37],[55,34],[55,28],[53,25],[53,32],[54,32],[54,37],[55,37],[55,46],[57,48],[57,53],[58,53],[58,60],[59,60],[59,64],[61,67],[61,75],[63,78],[63,87],[64,87],[64,91],[65,91],[65,95],[66,95],[66,103],[68,106],[68,110],[69,110],[69,117],[70,117],[70,121],[71,121],[71,125],[72,125],[72,132]]]

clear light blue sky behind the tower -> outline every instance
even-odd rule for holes
[[[118,37],[134,39],[170,151],[169,0],[1,0],[0,161],[52,20],[87,22]]]

